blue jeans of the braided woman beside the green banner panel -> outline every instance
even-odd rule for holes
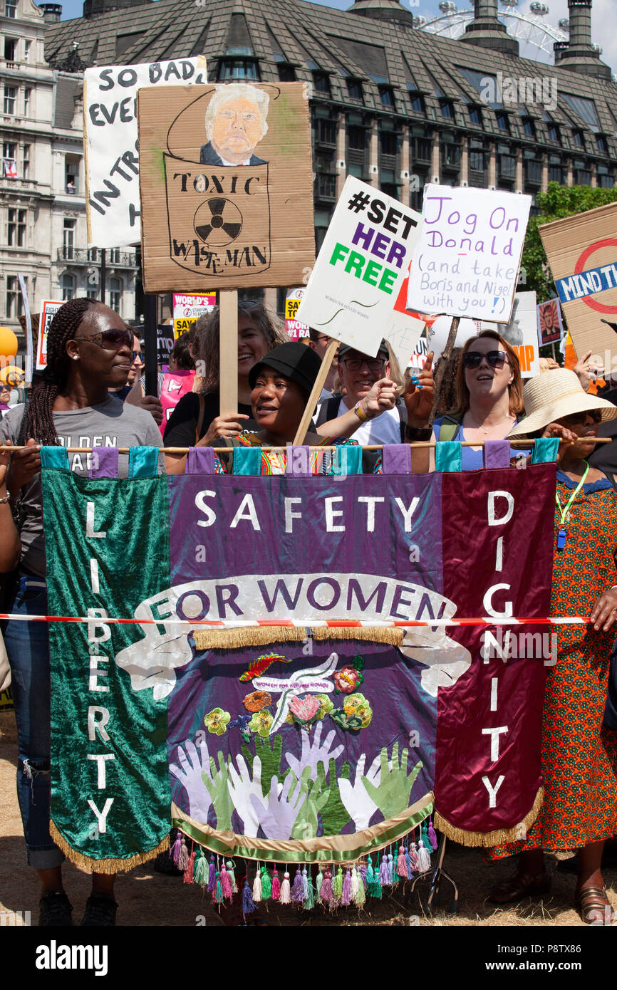
[[[48,592],[41,577],[21,577],[10,610],[47,615]],[[19,755],[17,797],[28,862],[35,869],[59,866],[64,854],[50,836],[50,643],[48,624],[9,622],[4,640],[11,664]]]

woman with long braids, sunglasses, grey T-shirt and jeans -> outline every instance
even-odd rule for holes
[[[26,408],[0,423],[0,443],[26,444],[11,455],[8,492],[19,505],[21,557],[9,612],[46,615],[46,555],[41,492],[41,445],[160,446],[150,413],[109,394],[127,381],[133,334],[113,310],[92,299],[72,299],[51,321],[48,365]],[[120,455],[119,476],[128,475]],[[71,453],[73,471],[87,475],[91,454]],[[2,520],[0,520],[0,523]],[[10,533],[8,534],[11,535]],[[0,539],[7,534],[0,530]],[[130,550],[128,549],[128,552]],[[9,622],[5,642],[13,671],[19,737],[17,791],[28,862],[42,885],[40,926],[72,925],[62,889],[64,858],[50,836],[50,651],[45,623]],[[96,770],[94,770],[96,773]],[[113,875],[92,874],[82,925],[115,924]]]

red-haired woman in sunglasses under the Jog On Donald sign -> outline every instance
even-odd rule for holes
[[[426,371],[423,372],[423,379]],[[432,377],[431,377],[432,382]],[[422,392],[412,378],[405,392],[409,440],[476,442],[505,440],[523,408],[521,370],[516,351],[495,331],[465,342],[456,376],[457,409],[427,428],[430,407],[419,415]],[[426,388],[423,383],[422,388]],[[431,393],[432,394],[432,393]],[[428,448],[427,448],[428,449]],[[513,455],[518,451],[512,451]],[[463,446],[463,470],[482,466],[482,447]],[[435,467],[433,449],[424,458],[416,451],[414,470]]]

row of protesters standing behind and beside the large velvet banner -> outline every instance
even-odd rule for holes
[[[233,471],[234,447],[259,446],[261,473],[285,472],[286,446],[297,438],[330,338],[311,331],[306,344],[289,342],[282,321],[261,303],[240,304],[238,330],[237,410],[221,409],[215,309],[174,347],[170,371],[195,373],[190,390],[163,422],[164,375],[159,373],[157,396],[147,395],[142,345],[133,330],[94,300],[71,300],[59,309],[42,381],[26,405],[9,408],[0,423],[0,444],[18,447],[0,451],[0,572],[10,575],[2,611],[47,613],[43,445],[75,446],[78,437],[80,446],[94,446],[95,438],[98,444],[121,447],[215,446],[219,472]],[[463,470],[474,470],[482,466],[485,441],[559,439],[552,614],[585,615],[590,622],[584,635],[580,627],[569,626],[561,636],[544,708],[544,804],[524,840],[492,851],[494,858],[517,853],[518,860],[512,876],[494,887],[490,898],[505,905],[546,894],[551,878],[544,850],[572,850],[576,854],[566,862],[577,875],[574,897],[583,921],[611,924],[615,913],[606,896],[602,859],[611,855],[606,842],[617,833],[612,649],[617,445],[596,448],[595,440],[598,434],[614,436],[617,405],[611,393],[602,398],[586,390],[588,356],[575,371],[548,362],[523,386],[515,349],[498,333],[482,332],[447,360],[436,396],[432,354],[404,379],[387,342],[374,356],[341,345],[302,442],[311,447],[312,473],[332,472],[335,447],[401,443],[414,445],[412,469],[423,473],[435,469],[435,444],[442,441],[471,445],[463,446]],[[379,450],[365,453],[362,469],[378,472]],[[520,458],[521,447],[511,453]],[[523,454],[531,455],[531,443]],[[164,469],[182,472],[185,461],[184,453],[167,453]],[[70,466],[87,473],[86,459],[79,455]],[[127,473],[128,457],[121,454],[119,476]],[[13,676],[27,855],[42,883],[40,925],[68,926],[72,909],[62,887],[63,854],[49,831],[48,630],[43,623],[11,621],[4,639]],[[113,883],[113,875],[92,874],[81,925],[115,924]]]

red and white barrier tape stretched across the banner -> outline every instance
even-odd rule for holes
[[[398,619],[386,619],[386,620],[374,620],[373,622],[360,622],[359,620],[324,620],[324,619],[308,619],[306,622],[291,622],[288,619],[281,620],[247,620],[246,622],[238,622],[237,620],[227,621],[223,619],[117,619],[112,616],[90,616],[83,618],[82,616],[24,616],[15,615],[8,612],[0,612],[0,620],[10,620],[11,622],[66,622],[66,623],[94,623],[95,625],[101,626],[103,623],[107,625],[119,625],[119,626],[187,626],[190,629],[194,629],[198,626],[212,627],[215,629],[244,629],[251,628],[255,626],[276,626],[283,628],[300,628],[305,629],[308,627],[315,628],[351,628],[351,629],[363,629],[363,628],[374,628],[379,627],[382,629],[434,629],[436,626],[576,626],[576,625],[586,625],[590,622],[587,616],[556,616],[547,619],[495,619],[490,616],[484,616],[478,619],[431,619],[428,621],[409,621]]]

